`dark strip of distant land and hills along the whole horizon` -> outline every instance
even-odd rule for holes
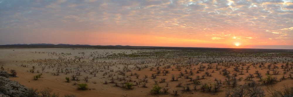
[[[72,45],[72,44],[8,44],[0,45],[0,48],[53,48],[53,47],[100,47],[103,49],[160,49],[160,50],[212,50],[212,51],[225,51],[225,50],[248,50],[248,51],[276,51],[276,50],[287,50],[292,52],[292,48],[289,49],[257,49],[257,48],[212,48],[212,47],[156,47],[156,46],[130,46],[130,45]]]

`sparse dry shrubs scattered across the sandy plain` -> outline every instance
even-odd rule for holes
[[[59,75],[54,78],[64,80],[65,77],[66,82],[73,81],[70,85],[77,85],[80,90],[87,90],[88,86],[100,85],[101,88],[109,86],[112,89],[123,88],[125,90],[121,91],[125,91],[125,93],[137,89],[148,89],[152,94],[174,94],[176,96],[179,92],[182,93],[182,96],[216,92],[213,94],[224,95],[226,93],[227,97],[242,94],[263,97],[264,86],[279,85],[279,81],[286,82],[293,79],[293,54],[289,54],[287,51],[137,49],[130,52],[127,49],[100,51],[96,48],[72,48],[72,50],[75,49],[85,49],[86,52],[81,52],[83,50],[74,54],[31,52],[45,54],[51,58],[21,61],[17,65],[27,68],[27,73],[30,74],[42,70],[33,78],[39,80],[42,73],[44,74],[42,77],[46,78],[34,81],[34,83],[47,80],[48,76]],[[88,52],[91,50],[97,52]],[[10,74],[2,75],[16,76],[15,70],[18,69],[9,70],[6,67],[4,69],[2,66],[4,70],[10,71]],[[15,72],[15,75],[12,71]],[[20,76],[21,70],[18,73]],[[80,82],[86,84],[78,84]],[[227,91],[228,89],[229,91]],[[291,88],[287,88],[286,92],[288,89]],[[35,93],[39,93],[33,89],[29,91],[31,97],[34,97]],[[281,90],[274,91],[276,92],[272,93],[279,96],[273,97],[287,95]],[[48,95],[50,97],[59,96],[57,93],[51,92]],[[243,95],[236,97],[243,97]],[[67,94],[64,96],[75,97]]]

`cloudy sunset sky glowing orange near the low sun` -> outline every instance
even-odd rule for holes
[[[293,0],[0,0],[0,45],[293,49]]]

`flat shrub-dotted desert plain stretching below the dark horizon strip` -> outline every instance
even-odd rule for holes
[[[224,97],[238,85],[255,82],[263,90],[292,86],[293,51],[172,47],[2,47],[0,65],[16,70],[11,77],[26,87],[78,97],[178,96]],[[42,74],[34,80],[33,76]],[[65,77],[71,79],[66,82]],[[74,79],[72,78],[74,77]],[[76,79],[78,77],[78,80]],[[272,82],[266,82],[266,78]],[[174,78],[174,79],[173,79]],[[265,80],[265,81],[264,81]],[[88,84],[78,90],[77,84]],[[133,84],[131,89],[125,83]],[[115,85],[117,84],[117,86]],[[143,87],[143,84],[146,84]],[[169,89],[150,93],[152,87]],[[167,86],[168,84],[168,86]],[[180,84],[180,85],[178,85]],[[221,86],[217,92],[210,86]],[[202,86],[205,90],[202,90]],[[235,86],[235,87],[234,87]],[[190,90],[187,90],[190,87]],[[195,89],[196,90],[195,90]],[[265,91],[266,96],[270,96]]]

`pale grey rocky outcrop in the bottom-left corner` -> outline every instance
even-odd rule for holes
[[[12,76],[0,70],[0,97],[26,97],[28,89],[16,81],[11,81],[7,76]]]

